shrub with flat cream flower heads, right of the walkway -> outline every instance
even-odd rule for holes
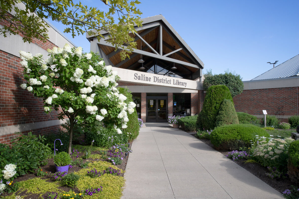
[[[286,140],[272,139],[268,143],[260,141],[253,150],[253,158],[263,166],[276,167],[279,171],[287,168],[288,147],[294,141],[291,138]]]

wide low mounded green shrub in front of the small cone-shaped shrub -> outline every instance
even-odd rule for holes
[[[230,124],[215,128],[210,140],[218,149],[238,150],[240,147],[250,147],[256,135],[269,137],[266,130],[252,124]]]

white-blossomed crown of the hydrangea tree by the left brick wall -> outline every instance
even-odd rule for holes
[[[119,94],[117,72],[93,52],[82,53],[81,47],[65,44],[47,51],[51,56],[45,60],[41,54],[19,52],[27,80],[20,87],[43,98],[47,113],[61,110],[60,119],[66,115],[73,122],[97,121],[121,134],[136,105],[126,104]]]

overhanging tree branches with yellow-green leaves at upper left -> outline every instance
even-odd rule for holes
[[[65,25],[65,33],[72,33],[73,38],[77,35],[88,33],[90,36],[103,38],[103,33],[109,33],[108,42],[115,49],[124,45],[120,52],[121,58],[129,56],[128,51],[136,48],[136,42],[129,36],[134,30],[134,23],[141,26],[140,15],[136,8],[140,4],[137,0],[102,0],[100,3],[109,7],[104,12],[97,7],[88,8],[86,5],[74,3],[73,0],[1,0],[0,21],[4,24],[0,28],[0,34],[23,36],[23,41],[32,42],[34,38],[46,42],[48,37],[47,27],[49,25],[43,20],[51,19]],[[19,4],[23,2],[25,5]],[[99,3],[99,4],[100,4]],[[100,7],[100,6],[99,6]],[[33,14],[35,13],[35,14]],[[114,15],[118,23],[115,23]]]

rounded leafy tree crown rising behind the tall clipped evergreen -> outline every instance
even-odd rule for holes
[[[225,85],[231,92],[231,96],[234,97],[243,92],[244,84],[240,75],[235,72],[230,72],[228,69],[225,70],[224,74],[213,75],[212,70],[208,70],[204,74],[205,79],[203,81],[203,87],[208,90],[210,86]]]

